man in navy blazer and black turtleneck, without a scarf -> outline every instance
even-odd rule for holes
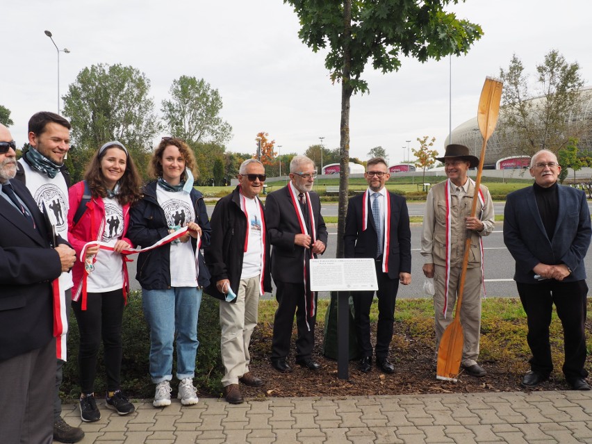
[[[532,352],[522,385],[537,386],[553,370],[549,325],[555,304],[564,327],[566,381],[574,390],[590,390],[584,369],[590,212],[582,190],[557,183],[559,172],[557,156],[538,151],[530,161],[533,186],[511,192],[504,209],[504,243],[516,260],[514,280]]]

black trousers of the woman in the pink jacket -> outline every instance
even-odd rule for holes
[[[72,302],[80,332],[78,367],[82,393],[94,392],[97,376],[97,357],[103,340],[107,390],[121,388],[122,322],[124,297],[122,290],[107,293],[88,293],[87,309],[82,310],[82,299]]]

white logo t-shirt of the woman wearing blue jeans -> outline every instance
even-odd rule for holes
[[[156,199],[165,212],[169,227],[183,228],[189,222],[195,222],[195,212],[188,193],[167,191],[156,186]],[[197,264],[191,240],[169,245],[171,286],[197,287]]]

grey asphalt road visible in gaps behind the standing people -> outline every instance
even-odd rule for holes
[[[411,204],[414,206],[421,206],[422,204]],[[497,211],[497,209],[496,209]],[[495,224],[495,229],[490,236],[484,238],[485,249],[485,288],[487,295],[490,297],[518,297],[516,291],[516,284],[512,280],[514,261],[504,245],[503,224],[498,222]],[[335,258],[336,256],[336,227],[329,227],[329,245],[327,245],[327,252],[323,255],[324,258]],[[426,297],[423,293],[424,277],[421,271],[423,265],[423,258],[420,254],[420,236],[421,224],[412,224],[411,227],[411,284],[409,286],[400,286],[399,297]],[[592,257],[586,256],[586,269],[592,268]],[[138,281],[135,277],[135,261],[128,264],[130,272],[130,281],[133,289],[140,289]],[[320,297],[328,297],[328,293],[320,293]],[[268,299],[270,295],[265,295]]]

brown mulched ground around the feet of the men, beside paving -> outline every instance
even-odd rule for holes
[[[586,323],[587,331],[591,331],[592,325]],[[375,331],[376,327],[372,327]],[[401,327],[395,322],[395,336],[398,339],[408,336],[401,331]],[[293,340],[295,331],[293,332]],[[258,327],[254,332],[251,342],[252,363],[250,370],[265,381],[261,388],[249,388],[242,386],[242,394],[247,400],[263,399],[265,397],[299,397],[299,396],[373,396],[373,395],[402,395],[425,393],[475,393],[475,392],[510,392],[527,391],[520,386],[523,371],[528,370],[528,356],[525,356],[524,365],[518,367],[520,372],[512,373],[506,370],[507,365],[496,362],[480,361],[487,375],[483,378],[469,375],[459,375],[458,382],[439,381],[436,379],[434,365],[434,346],[413,340],[412,347],[406,347],[403,353],[397,353],[391,345],[390,361],[395,364],[395,372],[386,375],[373,366],[369,373],[358,370],[357,361],[350,361],[350,378],[338,379],[337,361],[322,356],[323,331],[322,324],[318,324],[315,332],[315,354],[313,358],[320,363],[322,368],[311,371],[295,365],[293,356],[288,363],[293,367],[293,372],[283,374],[274,370],[270,365],[269,354],[271,349],[271,331],[269,327]],[[372,338],[375,343],[375,338]],[[431,343],[433,344],[433,342]],[[294,350],[294,348],[293,348]],[[590,357],[588,365],[590,367]],[[561,368],[561,363],[555,363],[556,368]],[[568,390],[563,377],[559,374],[551,377],[549,381],[541,384],[534,390]],[[528,391],[532,391],[528,389]]]

